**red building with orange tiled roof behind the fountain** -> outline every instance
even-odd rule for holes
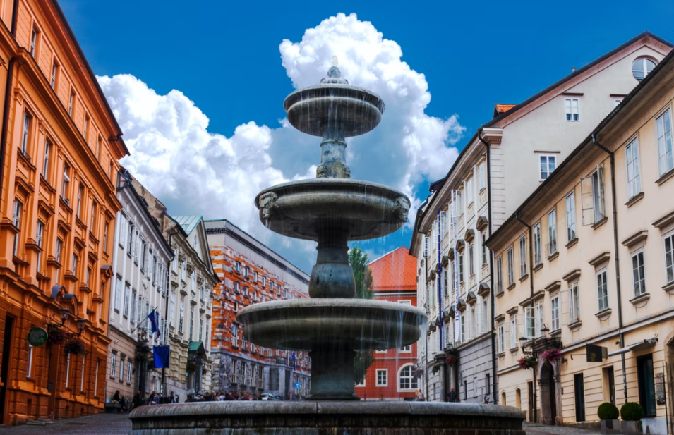
[[[416,259],[407,247],[399,247],[370,263],[375,299],[416,307]],[[414,377],[416,346],[377,350],[365,379],[356,384],[356,395],[364,400],[412,400],[419,389]]]

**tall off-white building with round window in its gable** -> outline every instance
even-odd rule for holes
[[[429,400],[443,400],[448,388],[463,401],[498,400],[492,289],[503,277],[491,273],[485,240],[634,88],[633,68],[646,73],[646,59],[656,63],[671,47],[644,32],[521,104],[497,104],[447,176],[431,184],[410,246],[431,319],[428,352],[419,355]],[[443,363],[450,353],[458,362]]]

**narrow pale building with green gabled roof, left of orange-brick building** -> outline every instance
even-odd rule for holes
[[[169,243],[173,260],[168,271],[168,303],[163,317],[170,367],[164,369],[164,391],[179,396],[211,391],[210,324],[212,288],[218,282],[210,262],[201,216],[167,214],[167,208],[138,180],[131,181]]]

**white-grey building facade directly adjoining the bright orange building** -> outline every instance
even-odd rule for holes
[[[166,330],[152,333],[148,315],[156,310],[164,326],[173,251],[133,184],[120,186],[117,199],[122,208],[114,229],[106,397],[119,390],[131,400],[136,391],[163,393],[161,370],[148,365],[148,356],[152,346],[166,342]]]

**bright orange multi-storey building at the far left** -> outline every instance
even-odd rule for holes
[[[117,161],[128,154],[55,0],[0,2],[0,423],[102,410]],[[61,326],[85,353],[28,344]],[[79,328],[78,328],[79,327]]]

